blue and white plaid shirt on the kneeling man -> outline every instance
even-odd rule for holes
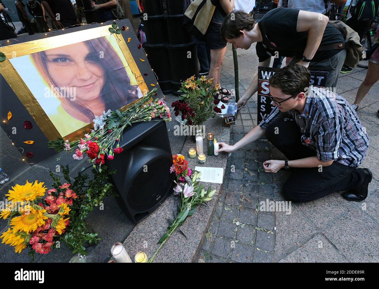
[[[368,137],[354,108],[342,96],[310,87],[302,113],[294,109],[282,113],[275,107],[259,126],[266,129],[288,116],[292,116],[303,133],[302,144],[314,149],[319,160],[335,160],[348,166],[363,162]]]

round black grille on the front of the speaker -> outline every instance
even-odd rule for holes
[[[157,205],[172,185],[170,167],[172,159],[157,159],[147,165],[135,178],[128,193],[128,204],[132,210],[148,210]]]

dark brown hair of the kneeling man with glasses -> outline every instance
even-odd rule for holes
[[[283,94],[295,97],[309,87],[310,72],[305,66],[295,64],[279,69],[270,77],[270,87],[279,88]]]

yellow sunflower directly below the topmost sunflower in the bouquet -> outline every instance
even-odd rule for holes
[[[22,209],[22,215],[14,217],[11,221],[13,231],[33,232],[38,227],[45,225],[47,216],[44,215],[46,210],[36,210],[31,206]]]

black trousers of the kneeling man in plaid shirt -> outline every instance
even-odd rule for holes
[[[315,151],[302,144],[301,137],[300,128],[294,121],[280,121],[269,125],[266,129],[266,138],[288,160],[316,155]],[[294,202],[319,199],[334,192],[355,188],[364,181],[364,171],[361,168],[343,165],[336,161],[321,168],[291,168],[291,172],[283,184],[282,193],[287,201]]]

